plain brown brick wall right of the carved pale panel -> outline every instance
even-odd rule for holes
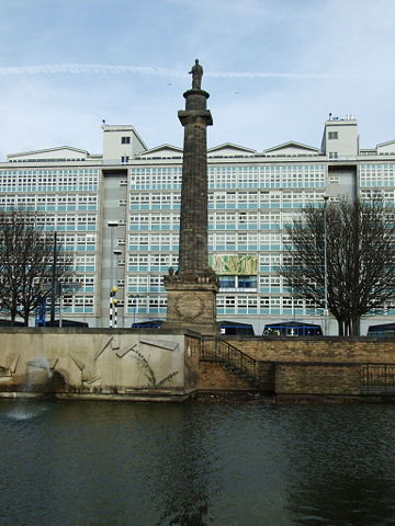
[[[370,339],[226,339],[259,361],[260,389],[276,395],[358,396],[362,364],[395,364],[395,342]],[[213,342],[205,342],[208,351]],[[201,362],[199,389],[241,390],[251,386],[219,364]]]

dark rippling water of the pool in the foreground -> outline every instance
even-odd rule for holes
[[[0,525],[395,525],[394,405],[0,402]]]

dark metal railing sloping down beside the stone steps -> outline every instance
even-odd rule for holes
[[[248,381],[260,380],[258,362],[219,338],[203,340],[201,359],[223,363]]]

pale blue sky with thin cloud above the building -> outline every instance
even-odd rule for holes
[[[360,145],[395,139],[394,0],[0,0],[0,160],[102,151],[102,119],[182,147],[195,58],[208,147],[320,146],[352,114]]]

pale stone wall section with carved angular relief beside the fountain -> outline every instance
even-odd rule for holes
[[[56,388],[43,389],[64,397],[183,398],[198,388],[200,340],[183,332],[1,328],[0,343],[0,396],[40,391],[45,368]]]

